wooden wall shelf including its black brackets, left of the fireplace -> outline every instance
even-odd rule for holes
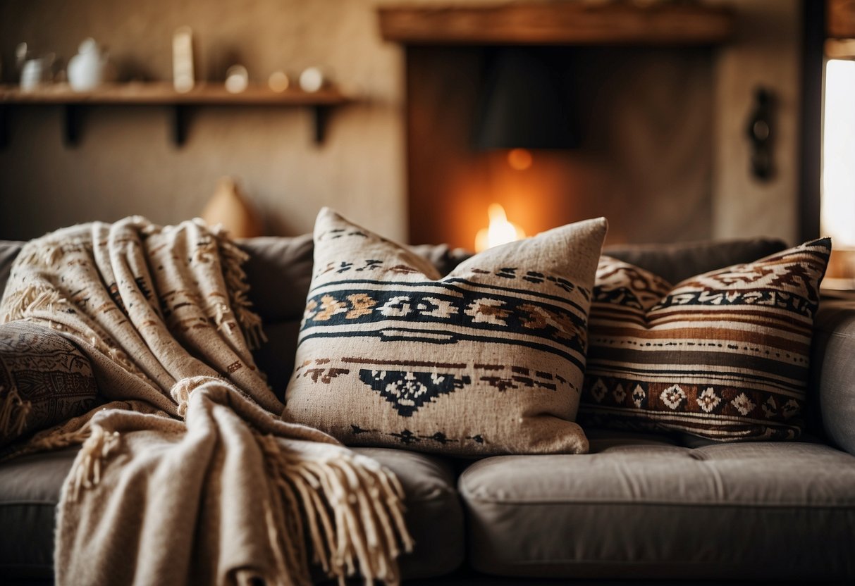
[[[314,117],[315,143],[324,139],[327,116],[334,106],[353,102],[352,97],[333,89],[307,92],[249,87],[238,94],[229,93],[221,84],[198,84],[179,93],[169,83],[127,83],[103,85],[93,91],[74,91],[67,84],[45,85],[34,91],[17,86],[0,86],[0,146],[8,142],[9,109],[14,106],[59,105],[64,112],[64,138],[69,146],[80,140],[83,111],[89,106],[168,106],[173,110],[174,144],[185,144],[187,126],[193,108],[201,106],[276,106],[309,108]]]

